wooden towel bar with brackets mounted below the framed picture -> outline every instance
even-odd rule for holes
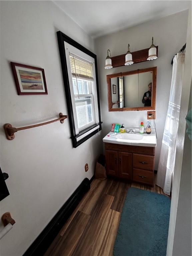
[[[48,121],[45,123],[41,123],[41,124],[35,124],[35,125],[30,125],[30,126],[25,126],[25,127],[20,127],[20,128],[15,128],[12,127],[11,124],[4,124],[4,130],[5,130],[5,135],[7,137],[8,140],[13,140],[15,138],[14,133],[17,131],[21,131],[21,130],[25,130],[25,129],[29,129],[29,128],[34,128],[34,127],[38,127],[38,126],[42,126],[45,124],[50,124],[56,121],[60,121],[61,124],[64,123],[64,120],[67,118],[67,115],[63,115],[62,113],[59,113],[59,118],[52,120],[52,121]]]

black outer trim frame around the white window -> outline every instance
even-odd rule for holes
[[[58,46],[59,46],[59,53],[60,53],[60,59],[61,59],[61,68],[63,73],[63,82],[64,82],[64,88],[65,88],[65,95],[66,95],[66,101],[67,101],[67,109],[68,109],[68,116],[69,116],[69,124],[70,124],[70,130],[71,130],[71,139],[73,143],[73,147],[76,148],[79,145],[81,145],[83,142],[91,138],[93,135],[98,133],[98,131],[101,131],[101,111],[100,111],[100,101],[99,101],[99,85],[98,85],[98,71],[97,71],[97,56],[86,49],[84,46],[77,43],[75,40],[70,38],[69,36],[65,35],[61,31],[57,31],[57,39],[58,39]],[[71,91],[70,91],[70,84],[69,84],[69,77],[68,77],[68,70],[67,70],[67,61],[66,61],[66,55],[65,55],[65,45],[64,42],[69,43],[70,45],[76,47],[80,51],[84,52],[85,54],[91,56],[94,58],[95,61],[95,82],[96,82],[96,89],[97,89],[97,104],[98,104],[98,116],[99,116],[99,122],[98,124],[94,124],[82,131],[79,132],[79,134],[76,134],[75,132],[75,122],[74,122],[74,114],[73,114],[73,106],[71,101]],[[93,132],[87,134],[85,137],[77,141],[77,138],[81,135],[85,134],[88,131],[91,131],[93,128],[97,127],[99,125],[99,128],[94,130]]]

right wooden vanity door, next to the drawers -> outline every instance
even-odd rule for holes
[[[118,152],[119,178],[132,180],[132,153]]]

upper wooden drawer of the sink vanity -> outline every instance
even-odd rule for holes
[[[133,154],[133,168],[154,170],[154,156]]]

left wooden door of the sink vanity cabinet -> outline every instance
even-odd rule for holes
[[[118,152],[105,150],[107,174],[118,177]]]

